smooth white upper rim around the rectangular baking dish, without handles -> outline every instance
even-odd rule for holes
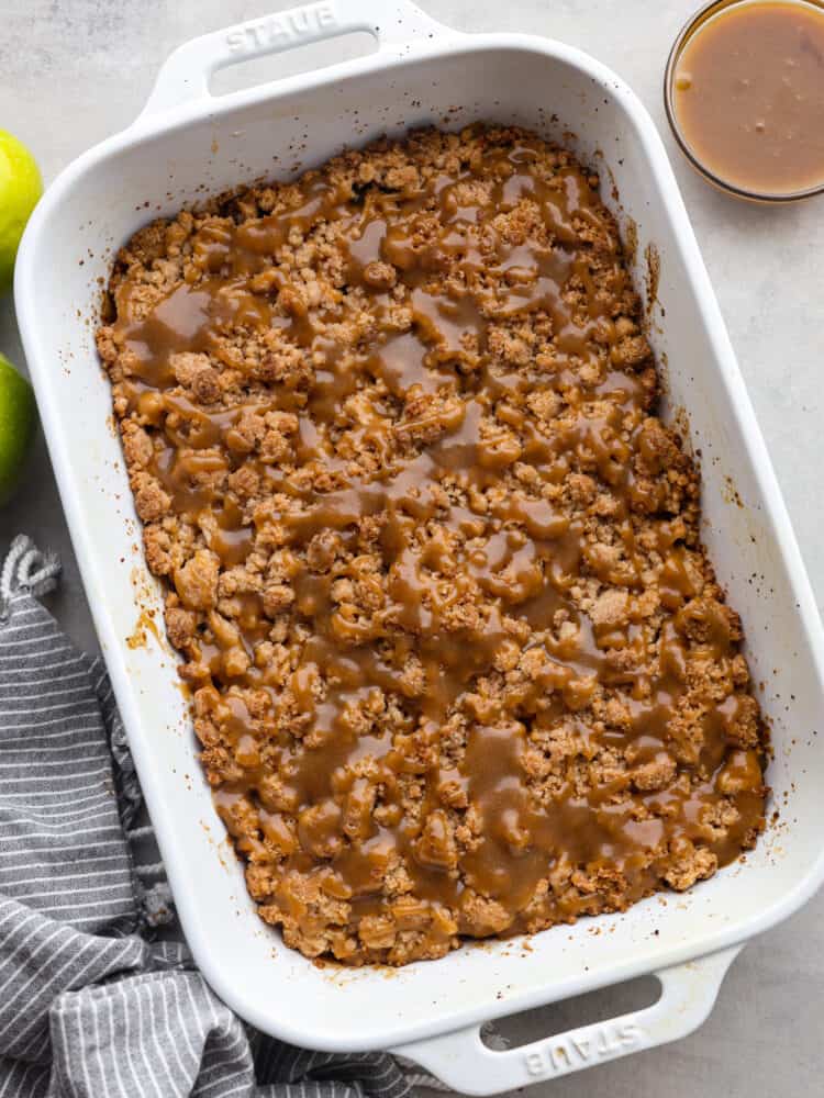
[[[290,96],[301,89],[310,87],[312,89],[324,88],[349,76],[360,76],[381,70],[401,72],[405,65],[417,64],[423,59],[438,61],[460,54],[491,53],[498,51],[525,51],[538,54],[547,61],[558,60],[577,67],[586,76],[597,81],[605,94],[610,93],[621,101],[621,105],[626,110],[628,119],[635,126],[637,136],[645,149],[655,176],[655,189],[660,198],[664,212],[671,224],[677,245],[682,253],[684,267],[693,283],[702,318],[716,350],[715,359],[711,363],[710,369],[716,372],[719,381],[725,385],[730,403],[730,414],[738,421],[738,426],[748,442],[753,473],[758,480],[759,489],[776,528],[777,548],[786,563],[793,593],[799,603],[797,613],[803,629],[804,640],[813,657],[819,685],[821,686],[822,681],[824,681],[824,638],[822,637],[821,621],[806,571],[792,533],[764,439],[755,421],[744,380],[738,370],[725,326],[721,318],[714,292],[700,257],[698,245],[672,175],[672,169],[667,159],[660,136],[648,112],[621,78],[580,49],[555,40],[541,38],[534,35],[464,35],[447,29],[443,30],[444,36],[438,37],[434,43],[424,45],[415,44],[403,56],[388,56],[382,52],[378,52],[377,54],[367,55],[354,61],[338,64],[320,71],[286,78],[274,85],[264,85],[246,91],[235,92],[221,99],[210,100],[205,105],[203,102],[194,102],[182,104],[157,115],[146,115],[144,113],[127,130],[105,139],[73,161],[49,187],[30,222],[21,246],[15,274],[15,301],[21,335],[26,356],[32,367],[44,433],[53,458],[60,497],[66,512],[73,545],[77,553],[83,586],[89,595],[94,625],[101,640],[101,647],[109,665],[127,732],[136,724],[140,724],[141,718],[132,695],[131,685],[127,681],[129,672],[122,658],[122,639],[115,631],[113,621],[108,613],[105,592],[101,589],[98,581],[93,560],[87,548],[88,533],[85,529],[80,500],[76,496],[69,474],[65,471],[69,462],[65,460],[66,451],[59,425],[63,413],[55,405],[49,392],[48,372],[51,365],[48,354],[43,347],[34,309],[36,269],[41,261],[41,253],[44,248],[44,232],[48,226],[49,219],[59,214],[60,201],[66,191],[82,181],[83,177],[103,160],[116,156],[116,154],[125,148],[140,147],[160,134],[171,135],[194,121],[201,121],[204,117],[220,119],[242,108],[253,107],[261,102],[276,102],[278,99]],[[47,247],[46,242],[45,248],[47,249]],[[142,741],[140,735],[134,737],[130,735],[130,744],[135,757],[138,773],[141,775],[149,775],[152,765],[148,760],[146,743]],[[144,782],[144,793],[149,813],[155,821],[158,842],[167,864],[168,877],[174,887],[174,882],[178,876],[177,863],[179,859],[185,856],[185,851],[178,847],[170,834],[171,821],[166,815],[163,798],[154,789],[151,781]],[[727,946],[738,944],[754,934],[775,926],[781,919],[787,918],[795,911],[820,887],[823,881],[824,848],[819,853],[817,859],[809,865],[806,872],[800,876],[793,888],[789,889],[771,906],[750,914],[737,928],[732,927],[714,933],[706,933],[700,939],[680,948],[662,949],[660,955],[647,955],[641,960],[633,960],[631,957],[623,964],[615,965],[601,974],[580,973],[561,981],[547,981],[539,989],[527,989],[520,995],[514,994],[511,998],[508,998],[503,1005],[503,1009],[498,1010],[498,1015],[514,1013],[586,990],[609,986],[634,976],[654,973],[686,961],[714,954]],[[180,921],[185,928],[192,954],[208,982],[214,987],[220,997],[233,1006],[242,1017],[248,1019],[264,1031],[274,1032],[278,1037],[294,1043],[313,1044],[312,1034],[309,1034],[308,1040],[305,1028],[292,1028],[288,1016],[272,1018],[271,1013],[261,1013],[257,1006],[246,1005],[243,989],[236,987],[227,979],[224,970],[212,956],[211,943],[204,940],[201,933],[201,921],[198,910],[192,904],[191,898],[187,895],[186,889],[179,890],[179,894],[176,890],[175,895]],[[387,1047],[388,1045],[416,1041],[478,1021],[485,1021],[494,1015],[494,1004],[483,1000],[472,1007],[453,1010],[448,1015],[443,1013],[439,1018],[434,1017],[415,1023],[404,1029],[400,1035],[397,1026],[391,1033],[386,1035],[377,1032],[370,1033],[368,1040],[365,1040],[361,1044],[353,1044],[352,1040],[336,1042],[334,1035],[324,1030],[322,1040],[315,1046],[330,1051]]]

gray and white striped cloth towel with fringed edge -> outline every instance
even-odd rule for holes
[[[0,1098],[405,1098],[390,1056],[250,1031],[151,940],[111,686],[37,601],[58,571],[21,537],[0,572]]]

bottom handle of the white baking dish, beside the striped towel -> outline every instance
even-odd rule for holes
[[[687,1037],[710,1015],[722,981],[742,949],[721,953],[654,973],[661,985],[656,1002],[594,1026],[582,1026],[520,1049],[490,1049],[480,1026],[393,1049],[443,1083],[467,1095],[494,1095],[528,1086],[608,1060],[628,1056]]]

